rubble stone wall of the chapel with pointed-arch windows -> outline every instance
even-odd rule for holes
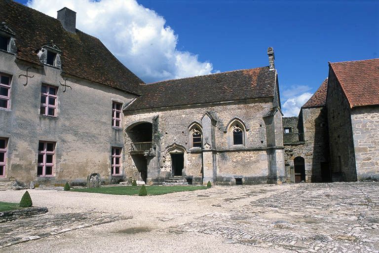
[[[158,135],[160,141],[159,170],[161,177],[171,176],[170,146],[179,145],[185,149],[185,171],[187,176],[201,176],[202,153],[201,148],[191,147],[189,126],[197,123],[201,126],[202,117],[209,111],[215,115],[216,126],[214,130],[215,145],[211,147],[216,152],[217,177],[231,178],[231,175],[246,177],[267,176],[268,162],[265,148],[266,128],[263,117],[272,108],[269,100],[245,101],[240,103],[217,104],[209,106],[192,106],[171,108],[166,110],[150,110],[150,112],[125,111],[124,125],[136,124],[136,122],[151,122],[158,116]],[[230,145],[228,127],[232,120],[237,119],[243,123],[246,129],[244,133],[245,145]],[[280,125],[281,126],[281,125]],[[272,133],[274,134],[274,133]],[[203,145],[206,140],[203,140]],[[208,140],[210,145],[212,140]],[[137,169],[132,159],[129,159],[131,151],[131,139],[126,133],[125,137],[125,171],[132,172]],[[247,151],[254,149],[253,151]],[[255,151],[259,149],[259,151]],[[200,152],[200,153],[199,153]],[[127,177],[129,175],[126,175]],[[234,176],[233,176],[234,177]]]

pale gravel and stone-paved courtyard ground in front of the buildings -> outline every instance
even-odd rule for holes
[[[159,196],[29,190],[0,253],[379,253],[379,182],[213,186]],[[18,202],[24,191],[0,191]]]

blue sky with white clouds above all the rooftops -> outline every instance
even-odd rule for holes
[[[104,3],[102,9],[112,8],[107,1],[111,0],[98,1]],[[107,28],[101,25],[91,28],[79,21],[78,28],[100,37],[147,82],[267,66],[266,50],[271,46],[286,115],[295,115],[327,77],[329,61],[379,58],[379,1],[138,0],[155,14],[140,5],[129,9],[126,5],[134,1],[113,0],[113,5],[125,5],[120,13],[126,13],[117,15],[112,10],[113,22],[124,19],[124,24],[139,24],[137,34],[148,36],[149,43],[136,44],[138,39],[132,39],[135,48],[129,51],[131,44],[115,45],[109,36],[102,37],[102,29]],[[49,2],[56,3],[49,6]],[[88,0],[29,3],[52,16],[60,4],[76,10],[78,18],[89,8],[100,8]],[[146,29],[149,22],[152,30]],[[134,36],[125,33],[124,41]]]

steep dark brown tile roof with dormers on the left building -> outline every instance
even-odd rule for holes
[[[69,33],[59,20],[11,0],[0,0],[1,22],[16,34],[18,59],[41,65],[36,51],[53,40],[62,50],[62,72],[138,94],[143,81],[98,38],[77,29]]]

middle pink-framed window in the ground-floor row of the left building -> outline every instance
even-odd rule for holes
[[[55,160],[55,143],[38,143],[37,177],[52,177]]]

